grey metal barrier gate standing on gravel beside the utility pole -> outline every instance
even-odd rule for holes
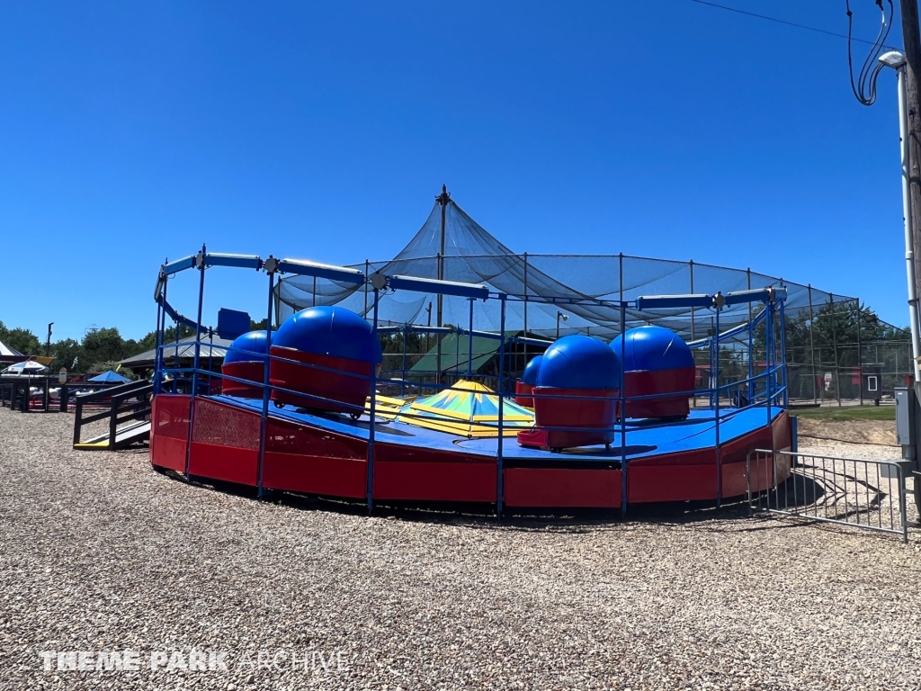
[[[749,453],[747,471],[750,514],[841,523],[908,542],[904,462],[759,449]]]

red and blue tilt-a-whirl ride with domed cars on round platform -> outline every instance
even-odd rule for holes
[[[191,327],[199,339],[208,332],[204,276],[215,268],[266,275],[270,324],[279,275],[361,286],[373,298],[369,319],[342,307],[309,307],[276,330],[250,332],[248,314],[220,310],[216,331],[236,340],[219,374],[202,368],[198,348],[192,367],[157,357],[150,430],[150,462],[157,470],[254,486],[260,496],[272,490],[364,500],[369,511],[376,500],[386,500],[475,502],[500,513],[504,507],[625,512],[635,503],[692,499],[718,505],[775,486],[790,473],[789,456],[775,455],[772,472],[757,480],[746,474],[749,451],[794,446],[784,348],[778,345],[782,287],[603,301],[620,314],[620,335],[611,344],[566,335],[542,356],[535,354],[514,381],[506,353],[516,336],[507,334],[506,310],[524,296],[204,248],[160,269],[155,297],[161,354],[168,320]],[[193,321],[169,304],[167,287],[195,271],[199,302]],[[405,383],[380,372],[379,299],[393,291],[468,299],[469,336],[499,343],[495,391],[468,367],[453,386],[439,383],[440,377],[415,383],[431,395],[384,395],[382,390],[402,390]],[[544,301],[552,309],[567,304]],[[568,300],[578,302],[601,301]],[[752,305],[751,321],[720,333],[720,311],[743,304]],[[474,331],[477,305],[498,306],[495,333]],[[705,314],[713,324],[707,337],[685,343],[663,326],[627,328],[628,310],[636,315],[677,308]],[[764,362],[752,357],[756,340]],[[737,381],[720,377],[721,347],[729,344],[747,350],[739,360],[747,360],[747,376]],[[696,390],[695,350],[708,354],[710,372],[707,388]],[[177,386],[182,381],[188,392]],[[689,403],[702,397],[706,404]],[[758,483],[767,485],[751,486]]]

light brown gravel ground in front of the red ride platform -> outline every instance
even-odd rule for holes
[[[2,689],[921,687],[917,534],[739,504],[368,519],[72,451],[71,420],[0,409]],[[46,672],[49,650],[140,668]],[[227,671],[182,670],[192,650]]]

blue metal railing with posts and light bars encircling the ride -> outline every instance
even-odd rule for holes
[[[343,278],[343,280],[348,280],[355,283],[364,283],[366,280],[369,280],[369,277],[360,275],[360,272],[356,272],[352,269],[346,269],[343,267],[334,267],[328,266],[325,264],[313,264],[307,262],[299,262],[294,260],[274,260],[271,256],[268,260],[263,261],[259,257],[251,257],[245,255],[226,255],[226,254],[209,254],[206,251],[206,248],[202,248],[202,252],[198,255],[187,257],[181,259],[177,262],[171,264],[164,264],[161,267],[160,275],[157,282],[157,291],[155,298],[157,299],[157,356],[155,357],[156,361],[156,373],[155,373],[155,392],[163,391],[163,379],[165,375],[172,374],[172,390],[173,392],[177,391],[179,387],[179,382],[182,375],[189,374],[191,375],[191,394],[192,399],[199,395],[198,387],[199,381],[204,377],[207,378],[209,384],[209,392],[211,390],[211,379],[214,377],[219,378],[221,381],[237,381],[240,383],[246,383],[249,386],[257,386],[262,388],[262,414],[261,414],[261,425],[260,425],[260,439],[259,439],[259,471],[257,478],[257,486],[259,490],[260,497],[262,497],[263,487],[262,487],[262,466],[264,463],[265,455],[265,446],[266,446],[266,428],[267,421],[269,417],[269,402],[272,398],[273,392],[285,392],[289,394],[297,395],[298,399],[304,399],[309,401],[315,401],[319,404],[334,404],[337,409],[344,409],[350,414],[356,416],[368,416],[368,445],[367,445],[367,509],[370,512],[373,510],[373,489],[374,489],[374,447],[375,447],[375,438],[376,438],[376,427],[379,424],[379,418],[377,416],[377,395],[378,387],[380,384],[391,384],[399,385],[401,387],[401,392],[405,392],[406,385],[406,334],[410,330],[415,331],[429,331],[434,333],[453,333],[458,335],[459,344],[462,334],[467,334],[468,336],[468,352],[467,352],[467,367],[466,367],[466,376],[468,377],[487,377],[488,375],[478,375],[472,370],[472,359],[473,359],[473,336],[492,338],[499,341],[498,348],[498,372],[496,374],[498,380],[498,386],[496,388],[496,395],[499,397],[500,404],[497,406],[497,419],[495,426],[489,421],[477,421],[477,424],[483,427],[495,427],[496,430],[496,467],[497,467],[497,478],[496,478],[496,509],[499,514],[502,512],[503,508],[503,467],[504,467],[504,432],[507,431],[507,427],[504,424],[504,405],[501,402],[505,401],[509,395],[507,388],[507,376],[509,373],[506,371],[506,357],[507,357],[507,345],[520,342],[520,343],[535,343],[541,345],[549,345],[549,342],[537,341],[535,339],[527,337],[510,337],[506,334],[506,306],[507,301],[511,300],[528,300],[530,302],[539,302],[553,305],[562,305],[562,304],[583,304],[583,305],[603,305],[608,308],[615,308],[619,310],[620,313],[620,333],[624,334],[626,332],[626,311],[628,309],[636,310],[639,309],[639,300],[636,301],[612,301],[612,300],[601,300],[601,299],[587,299],[587,298],[572,298],[572,299],[542,299],[536,296],[517,296],[517,295],[507,295],[502,292],[495,292],[488,290],[488,288],[483,286],[472,286],[467,284],[454,284],[450,282],[444,282],[442,287],[445,294],[461,294],[463,297],[470,298],[470,324],[469,329],[462,328],[453,328],[449,329],[446,327],[412,327],[410,325],[404,324],[402,326],[403,332],[403,353],[402,353],[402,378],[400,380],[394,380],[387,377],[379,376],[379,372],[376,368],[372,368],[372,374],[370,376],[363,374],[356,374],[355,372],[345,372],[338,369],[331,369],[316,365],[313,363],[305,363],[299,360],[294,360],[286,357],[275,356],[271,353],[271,338],[272,331],[271,329],[267,330],[267,348],[268,352],[265,356],[264,361],[264,375],[262,382],[250,381],[246,379],[240,379],[237,377],[232,377],[229,375],[221,373],[216,373],[212,369],[203,369],[201,367],[201,345],[202,345],[202,334],[211,333],[210,329],[207,329],[202,324],[203,319],[203,306],[204,306],[204,271],[209,266],[235,266],[235,267],[248,267],[256,269],[265,269],[269,277],[269,300],[268,300],[268,310],[267,310],[267,322],[272,323],[272,311],[274,307],[274,274],[276,271],[290,271],[302,275],[336,275]],[[168,278],[174,276],[181,271],[186,269],[197,268],[201,274],[199,279],[199,299],[198,299],[198,313],[197,321],[192,322],[188,318],[182,317],[182,315],[174,310],[167,301],[167,285]],[[379,297],[381,289],[388,289],[388,283],[392,283],[393,287],[400,287],[401,289],[409,290],[422,290],[431,291],[433,287],[436,289],[441,287],[439,282],[431,280],[416,280],[410,277],[396,277],[388,278],[384,277],[382,282],[374,282],[374,302],[372,306],[373,312],[373,321],[372,329],[375,334],[382,333],[393,333],[394,329],[387,327],[384,329],[379,329]],[[383,288],[381,288],[383,287]],[[461,292],[459,292],[461,291]],[[741,324],[739,326],[729,329],[725,333],[720,333],[719,331],[719,315],[722,302],[720,301],[719,294],[716,296],[664,296],[660,298],[648,298],[645,299],[650,304],[658,305],[659,302],[663,300],[670,300],[675,302],[675,304],[684,304],[687,302],[691,304],[689,300],[696,300],[694,305],[696,309],[705,310],[707,307],[712,307],[713,309],[713,319],[714,319],[714,334],[708,338],[694,341],[689,344],[694,348],[708,348],[709,350],[709,359],[710,359],[710,372],[711,372],[711,386],[705,389],[696,389],[691,392],[668,392],[668,393],[659,393],[659,394],[647,394],[642,396],[627,396],[625,392],[625,383],[624,383],[624,339],[621,342],[621,387],[620,390],[614,395],[599,395],[599,396],[569,396],[569,395],[560,395],[553,393],[537,393],[531,392],[529,398],[532,399],[566,399],[566,400],[612,400],[615,398],[619,404],[619,416],[617,422],[615,423],[612,431],[618,433],[620,436],[620,464],[622,471],[622,498],[621,498],[621,509],[622,512],[626,510],[627,506],[627,497],[628,497],[628,468],[629,463],[626,453],[626,434],[628,428],[628,422],[626,418],[627,404],[635,401],[649,401],[656,399],[664,398],[675,398],[678,396],[688,396],[688,397],[697,397],[699,395],[708,396],[710,399],[710,407],[713,410],[712,420],[715,426],[715,443],[717,450],[717,506],[722,499],[722,456],[721,456],[721,440],[720,440],[720,424],[721,420],[725,417],[731,417],[738,415],[740,412],[745,410],[750,410],[753,408],[764,407],[767,414],[767,424],[770,425],[773,422],[774,414],[772,408],[783,408],[787,405],[787,372],[786,365],[784,362],[785,349],[780,348],[780,362],[775,362],[777,358],[776,344],[775,344],[775,314],[779,312],[781,319],[780,322],[780,340],[783,344],[784,339],[784,324],[783,324],[783,310],[784,310],[784,298],[786,292],[783,289],[765,289],[763,291],[751,291],[752,295],[757,293],[758,299],[764,299],[765,309],[762,310],[757,316],[755,316],[751,322],[747,324]],[[732,299],[735,301],[744,301],[750,296],[742,296],[741,294],[727,294],[723,299]],[[500,328],[498,334],[492,334],[487,332],[479,332],[473,329],[473,316],[474,316],[474,299],[498,299],[500,302]],[[776,299],[775,299],[776,298]],[[656,302],[656,300],[659,302]],[[752,298],[753,299],[753,298]],[[664,304],[664,303],[663,303]],[[166,331],[167,317],[171,318],[173,322],[176,323],[176,345],[175,348],[175,358],[173,367],[169,368],[166,365],[164,358],[164,350],[167,347],[164,343],[164,334]],[[754,364],[753,364],[753,345],[754,345],[754,330],[756,327],[764,323],[765,331],[765,353],[766,353],[766,363],[764,371],[755,374],[754,373]],[[190,326],[194,329],[195,340],[190,343],[186,342],[187,345],[194,345],[194,358],[192,368],[181,368],[179,362],[179,326],[185,325]],[[725,384],[719,384],[719,358],[720,358],[720,343],[734,339],[741,334],[745,334],[747,331],[748,335],[748,377],[740,381],[731,381]],[[232,350],[232,348],[230,349]],[[460,351],[457,354],[457,363],[456,369],[460,372]],[[210,357],[209,357],[210,360]],[[316,394],[310,394],[300,391],[294,391],[286,389],[283,387],[276,386],[271,383],[269,378],[270,364],[273,361],[287,362],[295,364],[299,367],[306,367],[310,369],[318,369],[328,372],[336,372],[340,375],[345,375],[348,377],[356,377],[359,379],[365,379],[368,381],[369,385],[369,405],[353,405],[353,404],[343,404],[340,401],[335,401],[332,399],[325,398],[323,396],[318,396]],[[209,362],[210,364],[210,362]],[[436,376],[440,378],[442,372],[438,371]],[[760,382],[764,382],[763,392],[760,391],[761,386]],[[441,391],[444,389],[449,389],[450,386],[442,385],[440,383],[428,383],[422,381],[414,382],[414,386],[423,388],[423,389],[434,389],[436,391]],[[739,406],[729,406],[728,408],[721,408],[723,394],[726,393],[727,397],[731,399],[732,392],[741,392],[745,390],[748,392],[747,404]],[[189,464],[191,460],[192,452],[192,427],[194,422],[194,405],[190,408],[190,420],[189,420],[189,430],[188,430],[188,444],[186,449],[186,463],[185,463],[185,473],[189,474]],[[721,414],[721,410],[726,410],[726,414]],[[414,414],[412,412],[401,412],[401,416],[412,419]],[[421,417],[421,416],[419,416]],[[711,418],[708,416],[695,416],[695,419],[698,422],[706,422]],[[381,419],[381,422],[385,420]],[[672,423],[673,424],[673,423]],[[599,427],[547,427],[542,426],[546,429],[554,429],[559,431],[599,431]],[[610,458],[608,459],[610,460]]]

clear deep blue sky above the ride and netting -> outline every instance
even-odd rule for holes
[[[838,0],[725,4],[846,31]],[[6,3],[0,88],[0,320],[42,338],[146,334],[203,241],[390,258],[442,182],[519,252],[751,266],[907,322],[895,77],[858,105],[831,36],[690,0]],[[255,275],[209,287],[263,310]]]

